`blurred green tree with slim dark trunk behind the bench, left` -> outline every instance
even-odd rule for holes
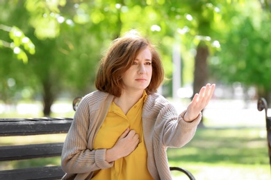
[[[46,3],[10,1],[6,5],[11,13],[6,15],[3,24],[9,22],[19,26],[38,48],[34,55],[28,54],[27,64],[13,62],[15,53],[3,48],[1,98],[8,100],[23,89],[30,89],[33,95],[42,95],[44,116],[49,116],[52,103],[62,91],[86,91],[87,86],[92,88],[91,81],[87,80],[94,76],[99,44],[95,43],[95,38],[87,39],[89,29],[81,30],[81,24],[58,14],[58,6]],[[84,78],[80,79],[80,76]],[[10,82],[14,82],[12,86]]]

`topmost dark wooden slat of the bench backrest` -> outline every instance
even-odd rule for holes
[[[0,122],[0,136],[67,133],[72,119],[67,120],[10,120]]]

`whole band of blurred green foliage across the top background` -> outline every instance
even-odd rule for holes
[[[1,30],[8,27],[0,46],[12,50],[1,48],[1,92],[8,92],[6,84],[13,79],[13,96],[15,89],[28,89],[45,106],[60,93],[75,97],[94,90],[101,55],[112,39],[133,28],[157,45],[167,78],[172,78],[172,48],[177,44],[182,83],[192,84],[195,49],[204,41],[216,80],[271,89],[270,14],[256,0],[1,1],[0,15]],[[15,58],[28,65],[11,63]],[[8,99],[10,93],[0,96]]]

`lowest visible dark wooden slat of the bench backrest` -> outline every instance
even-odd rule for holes
[[[42,168],[27,168],[0,171],[0,179],[25,180],[25,179],[61,179],[65,172],[60,166]]]

